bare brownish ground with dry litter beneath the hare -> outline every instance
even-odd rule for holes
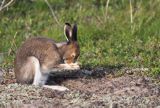
[[[94,68],[51,75],[60,92],[15,83],[13,69],[1,74],[0,107],[7,108],[159,108],[160,83],[147,69]]]

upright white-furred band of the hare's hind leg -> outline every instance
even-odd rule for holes
[[[29,60],[32,63],[32,65],[34,65],[33,85],[38,85],[38,86],[44,85],[48,78],[48,74],[44,74],[41,72],[40,63],[36,57],[34,56],[29,57]]]

